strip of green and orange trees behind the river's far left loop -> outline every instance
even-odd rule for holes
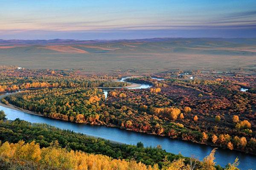
[[[0,92],[29,88],[109,88],[129,85],[106,78],[113,77],[86,77],[68,71],[19,70],[14,66],[0,65]]]

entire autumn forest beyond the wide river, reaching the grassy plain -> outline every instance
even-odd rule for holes
[[[119,127],[256,154],[254,77],[235,73],[202,74],[200,71],[154,76],[164,78],[162,80],[150,76],[132,77],[126,80],[152,87],[110,89],[105,99],[102,89],[94,87],[128,85],[113,81],[122,76],[14,66],[0,69],[2,87],[15,85],[28,89],[2,98],[1,102],[6,105],[65,121]],[[186,74],[198,79],[186,79]],[[8,78],[5,75],[9,75]],[[39,86],[35,87],[40,88],[33,89],[30,85],[38,80],[49,85],[40,86],[38,82]],[[243,92],[240,88],[249,90]],[[9,90],[13,89],[5,91]]]

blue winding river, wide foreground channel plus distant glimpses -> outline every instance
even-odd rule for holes
[[[125,81],[121,79],[119,81]],[[149,88],[151,85],[141,84],[140,87],[136,88]],[[107,89],[104,89],[107,92]],[[3,95],[3,94],[0,94]],[[105,95],[107,96],[107,95]],[[116,142],[121,142],[125,144],[137,144],[137,142],[143,142],[144,146],[156,147],[160,144],[163,149],[171,153],[181,153],[183,156],[190,157],[194,155],[195,158],[202,160],[205,156],[209,155],[211,150],[214,148],[212,146],[207,146],[204,144],[197,144],[189,141],[183,141],[179,139],[170,139],[168,137],[149,135],[146,133],[133,132],[129,130],[123,130],[115,127],[105,127],[98,125],[83,125],[74,122],[66,122],[58,119],[51,119],[44,116],[33,115],[29,113],[24,113],[22,111],[13,110],[0,106],[0,110],[6,113],[6,118],[9,120],[14,120],[20,118],[32,123],[47,123],[61,129],[73,130],[74,132],[84,133],[87,135],[97,136],[100,138],[105,138],[113,140]],[[240,164],[239,168],[243,170],[252,169],[256,170],[256,156],[241,153],[235,150],[225,150],[219,148],[215,153],[215,162],[220,164],[221,167],[229,162],[239,158]]]

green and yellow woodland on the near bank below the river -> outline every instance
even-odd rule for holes
[[[0,168],[77,170],[224,170],[214,163],[214,153],[202,161],[167,153],[160,147],[113,144],[46,124],[9,121],[0,111]],[[227,164],[225,170],[235,170]],[[238,169],[236,169],[238,170]]]

